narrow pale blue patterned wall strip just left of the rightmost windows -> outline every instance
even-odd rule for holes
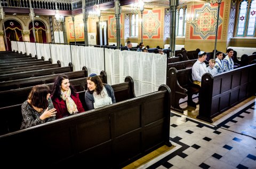
[[[230,15],[229,15],[229,24],[228,24],[228,37],[227,40],[234,37],[234,29],[235,29],[235,17],[236,17],[236,1],[231,1]]]

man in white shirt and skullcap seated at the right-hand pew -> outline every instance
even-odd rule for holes
[[[201,86],[201,79],[203,74],[208,73],[206,65],[204,63],[205,59],[206,52],[200,51],[198,53],[198,59],[192,67],[192,79],[194,81],[193,83],[198,84],[199,86]]]

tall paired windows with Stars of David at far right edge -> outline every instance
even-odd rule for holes
[[[239,3],[236,36],[255,37],[256,0],[243,0]]]

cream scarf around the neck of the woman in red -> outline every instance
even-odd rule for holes
[[[71,90],[69,88],[68,91],[65,91],[65,92],[61,91],[60,97],[64,101],[66,101],[68,112],[70,113],[70,115],[72,115],[72,114],[75,114],[76,112],[78,112],[78,110],[77,110],[76,103],[74,102],[73,99],[71,99],[70,95],[71,95]]]

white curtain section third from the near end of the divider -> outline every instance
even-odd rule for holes
[[[50,44],[52,63],[57,63],[59,60],[61,62],[61,67],[68,66],[68,63],[71,62],[71,53],[69,45],[57,45]]]

